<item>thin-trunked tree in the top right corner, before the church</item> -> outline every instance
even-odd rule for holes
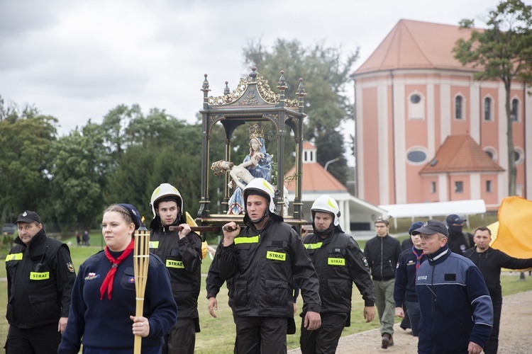
[[[487,29],[472,30],[469,39],[461,38],[455,44],[455,58],[462,64],[473,64],[481,71],[477,80],[500,79],[506,97],[506,136],[508,140],[509,195],[516,194],[516,165],[514,135],[512,130],[510,89],[511,82],[519,78],[531,83],[532,59],[532,6],[520,0],[502,1],[489,11]],[[460,21],[462,28],[472,28],[472,20]]]

